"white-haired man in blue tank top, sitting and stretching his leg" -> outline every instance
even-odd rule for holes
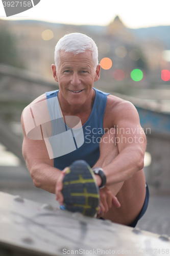
[[[56,193],[62,207],[65,177],[75,169],[68,166],[85,160],[102,168],[103,176],[93,176],[99,187],[106,178],[97,217],[134,227],[149,197],[142,170],[146,139],[134,105],[93,88],[100,78],[98,49],[84,34],[58,41],[52,70],[59,91],[38,97],[21,117],[34,185]]]

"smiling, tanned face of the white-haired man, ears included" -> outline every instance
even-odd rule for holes
[[[94,81],[100,77],[100,65],[93,66],[91,51],[60,52],[60,63],[52,66],[54,79],[59,82],[60,97],[70,105],[80,106],[92,95]]]

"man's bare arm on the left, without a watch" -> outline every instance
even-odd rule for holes
[[[44,100],[44,96],[41,98],[38,99],[38,102]],[[32,105],[33,104],[29,105],[27,108],[30,108]],[[25,118],[28,118],[28,123],[31,121],[29,120],[30,117],[27,117],[27,115]],[[50,159],[48,156],[44,139],[33,140],[27,137],[23,113],[21,116],[21,124],[24,134],[22,154],[26,160],[34,185],[55,194],[56,181],[61,175],[61,170],[54,167],[54,159]]]

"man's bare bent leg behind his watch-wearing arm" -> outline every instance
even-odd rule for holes
[[[100,143],[100,158],[94,167],[105,167],[119,154],[114,140],[114,129],[103,135]],[[146,189],[143,170],[139,170],[129,180],[113,184],[108,188],[117,197],[121,206],[120,208],[112,206],[103,218],[130,225],[139,215],[145,200]]]

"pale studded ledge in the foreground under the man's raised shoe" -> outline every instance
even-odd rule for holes
[[[148,250],[150,254],[154,254],[155,249],[161,254],[164,250],[170,251],[166,235],[85,217],[3,192],[0,192],[0,230],[0,249],[26,253],[24,255],[105,255],[110,252],[141,256],[148,254]]]

